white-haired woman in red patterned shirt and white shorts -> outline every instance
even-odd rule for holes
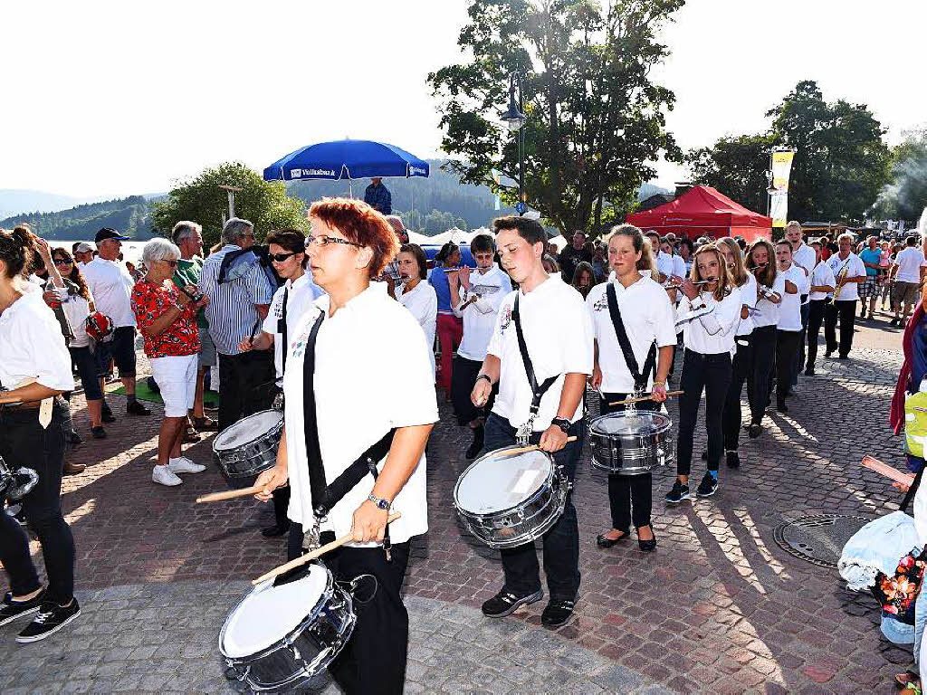
[[[199,333],[197,310],[209,297],[198,296],[194,286],[179,288],[171,281],[180,249],[167,239],[152,239],[142,249],[148,272],[132,290],[132,310],[145,338],[151,363],[164,400],[164,419],[158,433],[158,463],[151,479],[175,486],[184,481],[178,473],[199,473],[206,466],[181,455],[187,411],[197,396]],[[194,298],[196,297],[196,298]]]

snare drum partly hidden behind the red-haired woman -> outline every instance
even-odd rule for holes
[[[284,431],[284,414],[260,411],[229,425],[212,442],[212,454],[229,478],[246,478],[273,468]]]

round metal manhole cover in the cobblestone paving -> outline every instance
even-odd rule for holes
[[[846,541],[872,521],[847,514],[811,514],[776,528],[776,543],[782,550],[819,567],[836,569]]]

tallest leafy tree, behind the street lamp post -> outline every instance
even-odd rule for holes
[[[655,176],[648,162],[681,156],[666,131],[675,97],[650,71],[668,54],[656,35],[683,4],[472,0],[458,40],[472,59],[428,76],[451,169],[514,205],[517,136],[500,114],[509,74],[521,71],[527,204],[565,231],[597,230],[631,208],[638,187]]]

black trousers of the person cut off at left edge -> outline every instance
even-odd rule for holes
[[[67,410],[64,400],[56,398],[52,422],[45,429],[34,408],[0,410],[0,456],[13,470],[29,466],[39,474],[39,482],[22,499],[22,512],[42,546],[48,600],[60,605],[74,597],[74,537],[61,513]],[[14,596],[42,586],[29,554],[29,537],[6,510],[0,510],[0,562]]]

